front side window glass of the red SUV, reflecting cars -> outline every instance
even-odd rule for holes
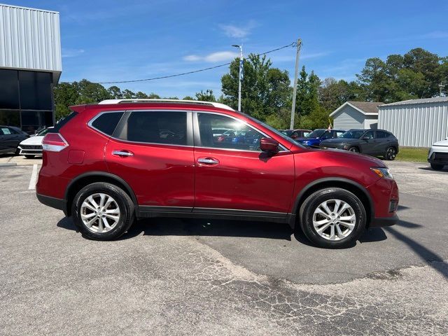
[[[197,113],[197,119],[202,147],[260,151],[260,139],[264,136],[246,123],[211,113]],[[228,131],[214,136],[213,129],[217,127]]]

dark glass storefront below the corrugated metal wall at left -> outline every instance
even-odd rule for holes
[[[52,74],[0,69],[0,125],[30,134],[52,126]]]

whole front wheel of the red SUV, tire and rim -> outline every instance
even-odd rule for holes
[[[309,195],[299,218],[304,235],[323,248],[353,246],[366,224],[363,203],[342,188],[325,188]]]

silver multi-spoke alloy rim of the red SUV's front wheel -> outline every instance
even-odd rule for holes
[[[342,200],[326,200],[314,210],[314,230],[324,239],[340,240],[349,237],[355,225],[355,211]]]

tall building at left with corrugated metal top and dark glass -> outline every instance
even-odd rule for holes
[[[61,72],[59,13],[0,4],[0,125],[53,125]]]

